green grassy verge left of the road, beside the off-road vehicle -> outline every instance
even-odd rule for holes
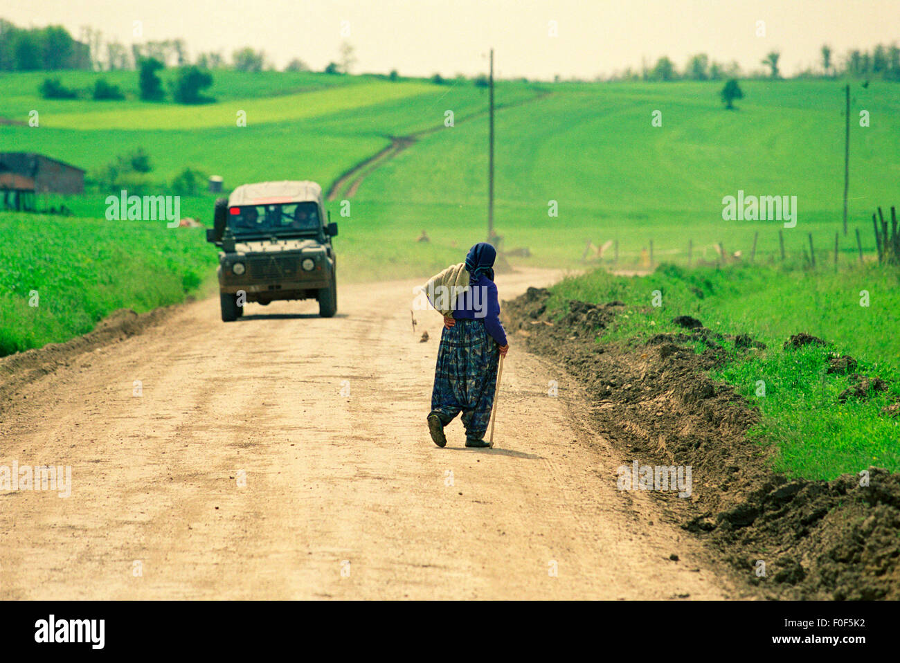
[[[202,228],[0,213],[0,356],[174,304],[215,279]],[[33,306],[31,304],[37,304]]]

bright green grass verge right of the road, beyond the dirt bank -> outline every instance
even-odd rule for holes
[[[717,332],[761,341],[767,347],[752,353],[726,344],[727,360],[711,377],[733,384],[759,406],[761,423],[750,435],[776,445],[777,470],[833,479],[870,465],[900,470],[900,419],[882,414],[882,408],[900,401],[898,285],[900,274],[874,265],[839,273],[663,265],[647,276],[597,271],[566,279],[552,289],[548,309],[562,313],[569,300],[624,301],[625,314],[601,343],[637,344],[657,333],[680,331],[672,323],[680,315],[699,318]],[[862,291],[869,293],[869,306],[860,305]],[[799,332],[828,345],[784,348]],[[851,355],[858,361],[855,372],[881,378],[887,390],[839,402],[838,395],[855,380],[827,372],[830,358],[838,354]]]

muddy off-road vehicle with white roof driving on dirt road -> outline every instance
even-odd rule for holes
[[[206,241],[219,246],[222,320],[244,315],[244,303],[319,300],[319,314],[338,310],[335,253],[322,189],[315,182],[242,184],[216,201]]]

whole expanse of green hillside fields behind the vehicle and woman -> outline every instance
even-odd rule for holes
[[[184,166],[222,175],[226,186],[304,177],[328,185],[389,144],[390,136],[437,129],[374,170],[343,219],[347,249],[383,232],[406,243],[428,230],[428,255],[456,255],[484,235],[486,217],[486,93],[471,82],[391,83],[372,76],[259,75],[217,72],[218,103],[198,107],[134,99],[136,75],[108,76],[128,92],[124,102],[44,101],[41,74],[0,76],[0,116],[24,121],[40,112],[40,128],[0,126],[0,144],[25,146],[89,172],[131,148],[144,148],[150,175],[165,187]],[[87,72],[63,75],[89,85]],[[501,83],[497,99],[496,227],[507,248],[527,247],[536,265],[581,265],[588,240],[617,240],[620,268],[640,266],[653,241],[654,262],[716,260],[716,245],[744,259],[759,233],[758,259],[779,251],[779,221],[724,221],[722,198],[797,196],[797,227],[784,228],[789,255],[808,252],[814,236],[820,261],[833,251],[841,220],[842,82],[744,81],[746,98],[725,112],[716,83]],[[541,94],[549,92],[550,94]],[[235,109],[246,106],[247,126]],[[446,111],[456,124],[444,127]],[[653,111],[662,127],[653,127]],[[857,115],[867,110],[871,126]],[[871,213],[896,203],[900,161],[900,85],[856,86],[851,122],[851,204],[844,261],[874,250]],[[158,192],[154,192],[158,193]],[[102,193],[67,205],[99,217]],[[185,201],[186,216],[207,220],[210,196]],[[558,216],[548,214],[550,202]],[[337,210],[332,206],[332,210]],[[553,237],[552,241],[547,241]],[[410,251],[416,247],[407,246]],[[350,264],[354,258],[348,255]],[[380,256],[358,255],[369,267],[351,279],[381,277]],[[370,259],[373,258],[374,259]],[[423,256],[423,259],[428,256]],[[609,250],[602,263],[611,264]],[[430,261],[404,260],[410,273]]]

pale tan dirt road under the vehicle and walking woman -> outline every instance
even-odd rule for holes
[[[557,276],[500,276],[500,296]],[[72,492],[0,489],[0,598],[734,596],[617,491],[578,385],[515,337],[499,448],[465,449],[458,419],[431,443],[441,318],[413,335],[413,285],[343,286],[332,319],[276,302],[223,324],[202,300],[23,386],[0,465],[69,465]]]

